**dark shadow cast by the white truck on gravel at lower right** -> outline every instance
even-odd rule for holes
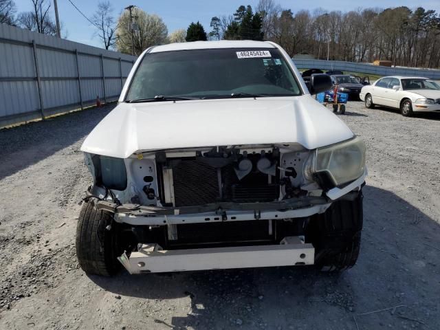
[[[366,186],[364,195],[360,258],[342,274],[275,267],[90,278],[122,296],[188,296],[186,317],[148,315],[170,329],[434,329],[428,325],[440,324],[439,223],[393,192]]]

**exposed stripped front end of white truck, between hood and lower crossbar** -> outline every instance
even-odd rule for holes
[[[95,178],[89,195],[102,199],[96,206],[117,214],[120,222],[268,219],[276,211],[284,219],[294,216],[285,213],[289,210],[329,203],[319,184],[305,175],[313,153],[294,144],[85,157]],[[139,217],[145,219],[134,220]]]

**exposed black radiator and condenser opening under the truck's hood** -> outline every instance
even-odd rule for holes
[[[307,193],[303,166],[308,152],[281,153],[280,148],[240,150],[215,147],[192,157],[155,154],[158,199],[163,206],[216,202],[269,202]],[[144,188],[145,191],[145,188]]]

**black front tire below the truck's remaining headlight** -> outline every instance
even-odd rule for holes
[[[311,225],[315,265],[325,272],[340,272],[358,260],[363,222],[362,192],[353,201],[334,202]]]

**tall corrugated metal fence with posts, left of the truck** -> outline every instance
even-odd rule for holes
[[[0,127],[116,100],[134,61],[0,24]]]

